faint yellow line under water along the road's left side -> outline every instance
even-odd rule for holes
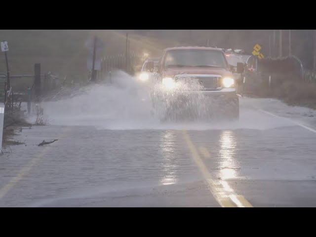
[[[63,138],[67,135],[67,133],[71,130],[71,128],[66,129],[60,138]],[[25,175],[27,175],[33,166],[37,164],[37,162],[42,158],[49,150],[52,149],[58,143],[59,141],[56,141],[52,143],[50,146],[45,147],[39,155],[32,158],[19,172],[18,174],[13,177],[9,183],[7,183],[3,188],[0,189],[0,199],[3,198]]]

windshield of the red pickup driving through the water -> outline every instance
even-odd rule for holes
[[[224,54],[218,50],[177,49],[167,52],[164,67],[227,68]]]

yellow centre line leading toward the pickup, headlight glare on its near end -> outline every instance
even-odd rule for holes
[[[188,132],[184,130],[183,135],[191,151],[192,157],[196,161],[204,179],[206,180],[207,187],[211,194],[215,197],[216,201],[222,207],[252,207],[244,197],[236,195],[234,190],[228,185],[226,181],[217,181],[212,178],[212,175],[200,158],[197,148],[191,141]],[[206,148],[200,148],[200,151],[205,156],[205,158],[210,158],[209,152],[206,152],[205,150],[207,151]]]

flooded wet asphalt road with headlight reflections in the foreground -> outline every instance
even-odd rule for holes
[[[237,124],[23,129],[26,146],[0,157],[0,206],[316,206],[314,118],[300,113],[244,98]]]

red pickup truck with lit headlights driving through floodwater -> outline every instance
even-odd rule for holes
[[[159,59],[157,70],[157,80],[162,90],[172,95],[160,96],[160,100],[168,100],[164,120],[175,118],[171,116],[175,111],[187,117],[188,114],[182,113],[182,110],[186,110],[190,101],[197,97],[198,102],[191,103],[195,113],[201,113],[195,110],[200,107],[203,108],[202,112],[209,114],[209,118],[239,119],[239,99],[233,77],[236,71],[228,64],[222,49],[166,48]],[[244,64],[238,63],[237,72],[242,73],[243,70]]]

